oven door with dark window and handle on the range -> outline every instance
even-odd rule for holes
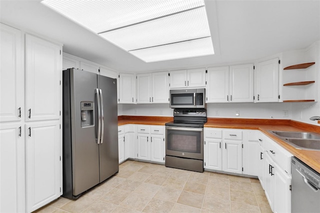
[[[165,127],[165,155],[203,159],[203,128]]]

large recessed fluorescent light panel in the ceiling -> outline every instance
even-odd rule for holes
[[[43,0],[145,62],[214,54],[203,0]]]

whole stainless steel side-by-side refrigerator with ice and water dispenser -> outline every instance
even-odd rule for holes
[[[117,173],[116,79],[63,70],[63,194],[76,199]]]

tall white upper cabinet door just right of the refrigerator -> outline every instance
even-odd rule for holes
[[[119,73],[119,103],[135,102],[135,76],[130,73]]]

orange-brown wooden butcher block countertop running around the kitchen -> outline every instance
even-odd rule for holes
[[[118,125],[124,124],[146,124],[164,125],[172,121],[173,117],[162,116],[118,116]],[[283,148],[288,150],[311,168],[320,173],[320,151],[297,149],[278,137],[269,133],[269,130],[280,131],[311,131],[320,133],[320,126],[307,124],[294,120],[286,119],[247,119],[247,118],[207,118],[204,127],[214,128],[238,128],[238,129],[257,129],[272,138]]]

